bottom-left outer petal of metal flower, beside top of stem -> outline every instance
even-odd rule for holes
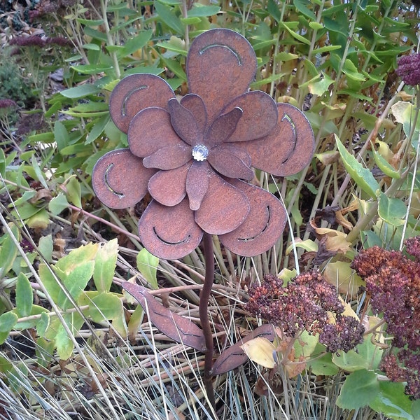
[[[158,258],[176,260],[197,248],[203,231],[195,223],[187,199],[173,207],[153,200],[140,218],[139,236],[143,245]]]

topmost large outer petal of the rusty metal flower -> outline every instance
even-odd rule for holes
[[[248,90],[257,59],[248,41],[230,29],[211,29],[191,43],[186,63],[190,92],[200,95],[213,121]]]

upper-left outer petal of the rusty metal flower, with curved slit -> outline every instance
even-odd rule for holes
[[[132,74],[123,78],[112,91],[109,111],[116,126],[127,133],[132,118],[149,106],[165,108],[175,97],[172,87],[153,74]]]

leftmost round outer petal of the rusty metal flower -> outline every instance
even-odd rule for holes
[[[131,168],[127,179],[125,169]],[[111,209],[125,209],[137,204],[147,193],[148,180],[155,169],[143,166],[140,158],[129,149],[119,149],[106,153],[94,165],[92,187],[106,206]]]

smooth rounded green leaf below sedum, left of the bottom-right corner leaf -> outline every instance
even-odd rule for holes
[[[371,370],[357,370],[346,377],[337,398],[337,405],[344,409],[359,409],[369,405],[378,393],[377,375]]]

